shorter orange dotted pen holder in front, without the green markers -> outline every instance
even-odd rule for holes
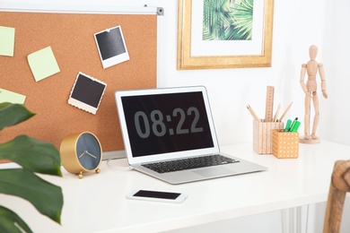
[[[273,130],[272,154],[278,159],[295,159],[299,155],[299,133]]]

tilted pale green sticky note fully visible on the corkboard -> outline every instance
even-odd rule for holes
[[[45,47],[28,56],[31,73],[36,82],[58,73],[59,67],[51,47]]]

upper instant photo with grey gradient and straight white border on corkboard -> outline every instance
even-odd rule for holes
[[[94,37],[104,69],[130,59],[120,26],[97,32]]]

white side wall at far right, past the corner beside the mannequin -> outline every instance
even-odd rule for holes
[[[322,127],[326,130],[329,141],[350,144],[347,132],[350,125],[350,73],[348,72],[350,54],[350,33],[346,31],[346,23],[350,21],[350,2],[335,1],[328,4],[324,18],[324,65],[327,67],[329,99],[322,108],[324,115]],[[327,125],[326,125],[327,124]]]

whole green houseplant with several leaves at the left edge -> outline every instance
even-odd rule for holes
[[[0,131],[31,116],[35,114],[23,105],[0,103]],[[0,143],[0,160],[11,160],[22,167],[0,169],[0,193],[26,199],[40,213],[60,224],[62,189],[36,175],[62,177],[59,152],[55,146],[27,135],[19,135],[10,142]],[[31,232],[25,221],[3,204],[0,203],[0,232]]]

